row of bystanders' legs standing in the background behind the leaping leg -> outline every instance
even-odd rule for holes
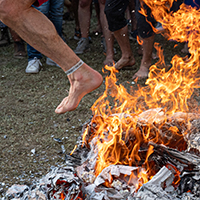
[[[137,5],[138,4],[138,5]],[[116,69],[120,70],[126,66],[134,66],[135,59],[131,50],[131,45],[129,41],[129,36],[134,39],[137,37],[138,30],[140,30],[140,25],[137,28],[136,15],[139,14],[139,1],[136,0],[126,0],[126,1],[110,1],[110,0],[48,0],[41,4],[40,6],[33,3],[32,7],[43,13],[54,25],[58,35],[62,38],[62,23],[64,15],[64,6],[66,6],[69,11],[68,17],[72,14],[75,21],[75,33],[74,39],[78,40],[77,47],[74,49],[76,55],[84,54],[90,50],[90,18],[92,13],[92,5],[95,7],[96,17],[97,17],[97,29],[96,34],[102,34],[101,41],[104,47],[104,54],[106,55],[103,62],[104,65],[113,66],[114,61],[114,39],[117,40],[122,56],[121,59],[115,63]],[[133,12],[135,11],[136,12]],[[136,14],[135,14],[136,13]],[[66,14],[65,14],[66,15]],[[140,19],[143,20],[143,27],[151,29],[150,25],[146,22],[145,17],[139,14]],[[131,22],[131,32],[128,31],[128,22]],[[0,22],[1,26],[1,40],[0,46],[10,44],[9,31],[11,33],[12,39],[14,41],[14,57],[24,58],[28,57],[28,64],[25,69],[26,73],[38,73],[40,70],[42,53],[32,47],[29,43],[25,43],[16,32],[11,28]],[[143,30],[142,30],[143,31]],[[148,33],[149,34],[149,33]],[[153,32],[151,30],[151,34]],[[150,66],[151,59],[149,55],[151,54],[151,49],[146,49],[146,37],[149,38],[151,35],[142,35],[144,39],[144,47],[142,48],[143,59],[141,62],[141,67],[135,76],[139,78],[146,77],[148,74],[147,66]],[[153,43],[153,37],[147,39],[147,43]],[[151,42],[152,41],[152,42]],[[26,50],[25,50],[26,45]],[[146,45],[148,47],[152,46],[149,43]],[[27,54],[27,55],[26,55]],[[151,57],[151,56],[150,56]],[[47,65],[59,66],[51,58],[46,58]]]

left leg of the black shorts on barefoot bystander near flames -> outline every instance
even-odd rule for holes
[[[104,12],[110,31],[120,30],[127,25],[125,11],[128,4],[129,0],[106,0]]]

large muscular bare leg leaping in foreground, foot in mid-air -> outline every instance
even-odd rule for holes
[[[33,3],[34,0],[0,0],[0,19],[64,71],[69,70],[80,58],[59,37],[48,18],[31,7]],[[68,78],[71,83],[69,95],[58,106],[56,113],[74,110],[85,94],[102,83],[102,76],[86,64]]]

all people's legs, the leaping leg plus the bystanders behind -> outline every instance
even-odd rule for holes
[[[172,11],[177,10],[182,3],[183,0],[174,1]],[[102,33],[106,55],[103,64],[108,66],[115,64],[117,70],[126,66],[134,67],[135,58],[131,50],[130,37],[138,36],[142,41],[142,59],[133,79],[147,78],[155,36],[150,23],[156,26],[157,22],[143,1],[0,0],[0,20],[2,20],[0,46],[10,43],[9,30],[14,41],[14,56],[24,58],[27,52],[26,73],[38,73],[42,65],[40,59],[45,55],[46,64],[61,67],[70,80],[69,95],[57,107],[56,113],[74,110],[84,95],[102,83],[101,74],[78,57],[90,50],[91,5],[95,5],[98,22],[95,33]],[[64,6],[73,13],[75,21],[74,39],[78,40],[78,43],[74,50],[62,37]],[[147,16],[139,12],[141,6],[146,9]],[[128,29],[128,17],[131,19],[131,32]],[[114,40],[118,42],[121,50],[121,58],[117,62],[114,61]],[[26,51],[24,41],[27,45]]]

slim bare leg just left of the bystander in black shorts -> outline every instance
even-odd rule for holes
[[[104,65],[113,66],[113,57],[114,57],[114,50],[113,50],[113,43],[114,37],[112,32],[108,29],[108,22],[106,19],[106,15],[104,13],[105,3],[102,0],[99,0],[100,5],[100,22],[103,31],[103,35],[106,41],[106,59],[104,60]]]

